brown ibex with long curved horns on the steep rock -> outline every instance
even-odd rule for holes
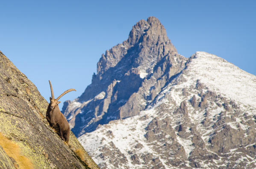
[[[62,96],[67,94],[71,91],[76,91],[75,89],[68,89],[65,92],[63,92],[59,97],[54,99],[53,95],[53,86],[49,80],[50,83],[50,89],[52,97],[50,97],[50,103],[47,108],[46,112],[46,119],[49,122],[50,126],[59,131],[59,137],[64,140],[66,143],[69,141],[69,133],[70,128],[68,121],[66,120],[65,116],[60,112],[58,104],[60,101],[58,101]]]

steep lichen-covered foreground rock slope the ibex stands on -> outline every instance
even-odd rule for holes
[[[50,128],[47,106],[35,85],[0,52],[0,132],[21,148],[35,169],[98,168],[72,132],[66,145]],[[77,149],[84,161],[75,154]],[[15,168],[15,160],[1,146],[0,157],[0,168]]]

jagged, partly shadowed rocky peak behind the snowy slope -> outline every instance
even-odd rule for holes
[[[157,18],[141,20],[126,41],[102,55],[91,85],[79,98],[65,102],[62,112],[77,136],[111,120],[138,115],[186,60]]]

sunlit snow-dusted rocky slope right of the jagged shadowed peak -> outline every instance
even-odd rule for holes
[[[147,109],[79,140],[103,169],[256,168],[256,76],[197,52]]]

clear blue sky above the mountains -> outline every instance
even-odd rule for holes
[[[209,52],[256,74],[255,0],[1,0],[0,11],[0,50],[48,102],[49,79],[56,97],[77,89],[62,103],[80,96],[101,54],[150,16],[179,54]]]

